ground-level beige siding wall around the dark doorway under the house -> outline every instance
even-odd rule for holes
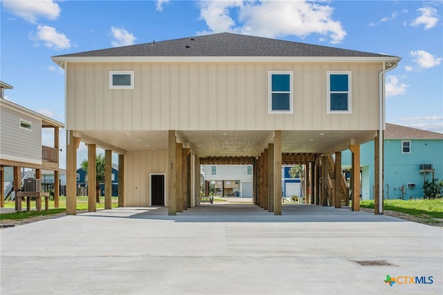
[[[127,153],[125,169],[125,206],[150,205],[150,173],[168,172],[168,151],[131,151]],[[168,175],[165,182],[168,183]],[[167,205],[168,191],[165,191]]]

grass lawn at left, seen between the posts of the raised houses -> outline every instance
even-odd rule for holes
[[[25,199],[25,198],[24,198]],[[21,211],[21,212],[11,212],[2,213],[0,215],[0,220],[24,220],[28,218],[34,218],[37,216],[48,216],[53,214],[58,214],[66,211],[66,197],[60,197],[59,208],[54,207],[54,201],[49,200],[49,211],[44,211],[44,198],[42,198],[42,211],[38,213],[35,211],[35,200],[30,202],[31,211]],[[118,207],[118,197],[112,197],[111,199],[112,208]],[[6,201],[5,208],[15,208],[15,201]],[[100,197],[100,203],[96,203],[96,208],[98,210],[105,209],[105,197]],[[88,197],[77,197],[77,210],[83,211],[88,209]],[[26,200],[21,202],[21,210],[26,210]]]

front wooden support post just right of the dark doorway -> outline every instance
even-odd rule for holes
[[[168,131],[168,215],[177,215],[176,141],[175,131]]]

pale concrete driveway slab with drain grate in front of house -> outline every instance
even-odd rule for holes
[[[167,213],[125,207],[1,229],[1,294],[443,293],[438,227],[309,204],[282,216],[244,204]]]

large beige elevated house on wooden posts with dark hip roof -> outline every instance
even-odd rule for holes
[[[341,207],[341,162],[327,171],[327,156],[383,138],[385,75],[400,61],[230,33],[52,59],[66,75],[66,213],[82,141],[90,162],[96,146],[118,153],[120,205],[170,215],[199,204],[200,164],[253,165],[253,202],[277,215],[281,165],[309,164],[311,202]]]

